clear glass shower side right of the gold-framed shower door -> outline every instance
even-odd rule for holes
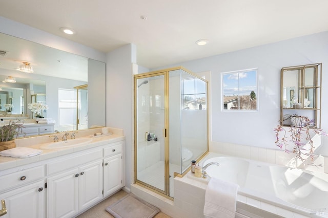
[[[169,90],[170,171],[182,174],[208,150],[207,82],[179,69]]]

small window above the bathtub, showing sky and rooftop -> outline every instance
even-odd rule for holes
[[[258,69],[222,73],[222,111],[258,111]]]

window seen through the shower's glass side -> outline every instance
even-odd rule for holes
[[[206,82],[198,78],[182,80],[182,109],[206,110]]]

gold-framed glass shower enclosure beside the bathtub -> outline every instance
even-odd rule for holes
[[[173,178],[208,152],[208,82],[178,67],[134,84],[135,182],[173,198]]]

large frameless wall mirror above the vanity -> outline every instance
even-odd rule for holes
[[[33,72],[18,70],[24,66]],[[105,69],[104,62],[0,33],[0,118],[31,123],[28,104],[40,102],[59,132],[105,126]],[[74,89],[80,85],[88,89]]]

